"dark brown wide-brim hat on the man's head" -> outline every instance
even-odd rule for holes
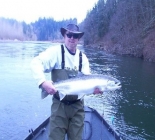
[[[79,38],[81,38],[84,35],[84,32],[79,31],[79,27],[75,24],[68,24],[66,28],[60,28],[60,32],[62,36],[66,33],[66,31],[69,31],[74,34],[79,34]]]

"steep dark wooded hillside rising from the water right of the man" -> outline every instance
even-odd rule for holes
[[[99,0],[81,25],[85,44],[155,62],[155,0]]]

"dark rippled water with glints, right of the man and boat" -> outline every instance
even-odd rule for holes
[[[119,79],[119,91],[105,93],[89,102],[125,140],[155,139],[155,64],[141,59],[105,54],[98,50],[85,49],[90,58],[93,73],[112,75]],[[92,52],[92,53],[91,53]]]

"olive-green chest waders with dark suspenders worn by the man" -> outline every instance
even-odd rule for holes
[[[77,76],[82,69],[82,53],[79,53],[79,70],[65,69],[65,51],[61,45],[62,69],[52,70],[52,80],[66,80]],[[60,101],[59,94],[53,95],[51,106],[49,140],[81,140],[84,126],[84,102],[77,100],[77,96],[68,95]]]

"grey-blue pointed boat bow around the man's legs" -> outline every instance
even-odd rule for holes
[[[105,119],[95,110],[85,106],[85,120],[82,140],[121,140]],[[47,118],[34,131],[29,130],[30,134],[24,140],[48,140],[49,118]],[[67,139],[67,136],[65,138]]]

